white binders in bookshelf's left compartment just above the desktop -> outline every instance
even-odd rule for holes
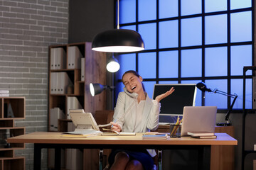
[[[50,131],[58,131],[58,119],[64,119],[65,114],[60,108],[50,108]]]

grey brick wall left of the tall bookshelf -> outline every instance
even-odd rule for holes
[[[0,89],[26,97],[26,133],[47,131],[48,46],[68,43],[68,0],[0,0]],[[16,151],[33,169],[33,145]],[[47,154],[42,156],[47,167]]]

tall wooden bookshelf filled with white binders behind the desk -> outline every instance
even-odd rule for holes
[[[68,108],[78,106],[70,104],[74,103],[70,101],[79,103],[80,108],[83,108],[85,112],[92,113],[92,115],[95,115],[96,110],[105,110],[105,91],[92,97],[89,84],[106,84],[107,54],[92,51],[91,45],[91,42],[78,42],[49,47],[48,131],[68,131],[68,124],[71,122]],[[63,81],[59,76],[56,78],[55,74],[65,75],[62,77],[66,77],[65,79],[68,79],[68,81]],[[68,85],[61,87],[58,84],[60,81],[68,82]],[[59,108],[60,112],[53,112],[53,108]],[[86,149],[83,152],[83,157],[83,169],[98,169],[95,160],[95,158],[98,158],[98,152]],[[92,164],[92,162],[95,163]],[[51,164],[53,164],[52,160],[49,159],[48,165]],[[65,167],[63,168],[65,169]]]

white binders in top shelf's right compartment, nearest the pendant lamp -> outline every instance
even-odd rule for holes
[[[77,46],[68,47],[68,69],[81,69],[82,54]]]

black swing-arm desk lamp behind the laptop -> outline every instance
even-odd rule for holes
[[[237,95],[237,94],[228,94],[228,93],[226,93],[226,92],[224,92],[224,91],[219,91],[218,89],[214,89],[214,90],[212,91],[211,89],[207,89],[206,84],[203,83],[203,82],[200,82],[200,83],[196,84],[196,87],[197,87],[199,90],[203,91],[203,92],[208,91],[208,92],[213,92],[214,94],[222,94],[222,95],[224,95],[224,96],[229,96],[229,97],[231,97],[231,98],[234,98],[234,100],[233,100],[233,102],[232,102],[230,108],[228,109],[228,113],[225,115],[225,120],[227,121],[227,123],[217,123],[218,126],[230,126],[231,123],[230,123],[230,121],[229,121],[229,115],[230,115],[230,112],[232,111],[232,108],[233,108],[233,106],[234,106],[234,103],[235,103],[236,98],[238,98],[238,95]]]

